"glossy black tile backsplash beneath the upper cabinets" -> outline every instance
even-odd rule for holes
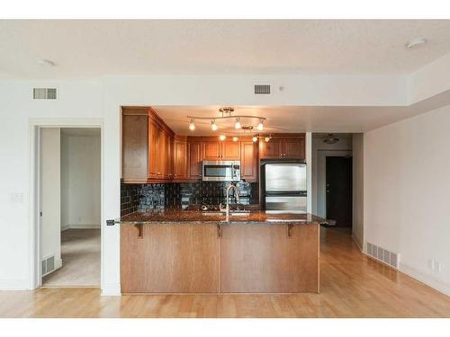
[[[186,208],[189,205],[219,205],[226,202],[229,182],[184,182],[121,184],[121,216],[157,208]],[[236,202],[234,196],[230,202]],[[258,203],[257,182],[238,182],[242,204]]]

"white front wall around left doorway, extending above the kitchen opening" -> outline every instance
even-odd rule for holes
[[[284,91],[256,96],[252,90],[256,83],[283,85]],[[0,288],[33,287],[31,120],[48,119],[50,125],[55,119],[65,119],[67,125],[80,120],[103,123],[102,291],[116,295],[120,292],[120,232],[118,226],[105,226],[105,220],[120,216],[121,105],[393,106],[408,103],[407,84],[406,76],[326,75],[0,81],[0,158],[7,162],[0,166]],[[57,87],[58,100],[32,100],[33,87]],[[23,202],[13,202],[14,193],[23,194]]]

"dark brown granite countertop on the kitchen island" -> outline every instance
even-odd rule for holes
[[[211,212],[210,212],[211,213]],[[217,213],[217,212],[216,212]],[[116,224],[152,224],[152,223],[192,223],[192,224],[286,224],[308,225],[326,222],[322,217],[312,214],[273,214],[265,210],[254,210],[246,215],[229,215],[229,222],[224,215],[203,215],[199,210],[158,209],[147,212],[134,212],[114,221]]]

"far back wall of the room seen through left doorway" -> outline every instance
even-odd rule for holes
[[[100,228],[100,136],[61,142],[61,228]]]

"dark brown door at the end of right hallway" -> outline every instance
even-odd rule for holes
[[[326,158],[327,219],[336,226],[352,226],[352,157]]]

